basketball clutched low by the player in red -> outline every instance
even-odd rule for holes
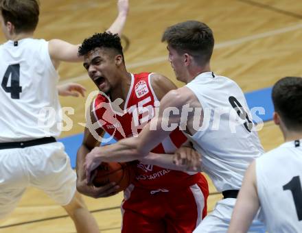
[[[97,167],[93,185],[100,187],[115,182],[119,186],[117,192],[120,192],[124,191],[134,179],[135,171],[130,162],[102,162]]]

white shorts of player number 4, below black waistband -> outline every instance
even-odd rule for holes
[[[14,210],[28,186],[43,190],[60,206],[69,204],[76,175],[62,143],[0,149],[0,219]]]

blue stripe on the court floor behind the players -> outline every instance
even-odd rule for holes
[[[255,107],[260,107],[264,109],[264,114],[262,112],[255,111],[255,115],[253,114],[253,119],[258,122],[259,119],[262,121],[270,121],[272,120],[272,112],[274,108],[272,106],[271,100],[272,88],[264,88],[260,90],[252,91],[251,93],[245,93],[246,101],[248,103],[248,107],[253,110],[257,110]],[[257,120],[257,117],[259,119]],[[105,138],[108,138],[108,134],[105,134]],[[65,145],[65,149],[67,154],[71,160],[71,166],[75,168],[75,160],[78,148],[82,144],[83,134],[75,134],[73,136],[69,136],[66,138],[60,138],[60,142]],[[115,140],[111,140],[109,143],[115,143]]]

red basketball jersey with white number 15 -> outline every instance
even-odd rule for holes
[[[93,103],[93,112],[100,126],[115,140],[137,135],[154,116],[154,102],[158,99],[152,89],[150,75],[151,73],[131,75],[132,81],[124,110],[118,112],[113,110],[106,95],[97,95]],[[176,128],[152,152],[171,154],[186,140],[187,137]],[[195,183],[201,175],[200,173],[190,175],[194,173],[164,169],[141,162],[137,163],[135,170],[137,174],[135,185],[149,189],[188,186]]]

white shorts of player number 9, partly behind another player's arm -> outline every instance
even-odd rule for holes
[[[222,199],[217,202],[213,212],[209,213],[205,219],[194,230],[194,233],[222,233],[227,232],[233,208],[235,207],[235,198]],[[251,224],[248,232],[258,233],[266,232],[266,228],[262,221],[256,217]]]

